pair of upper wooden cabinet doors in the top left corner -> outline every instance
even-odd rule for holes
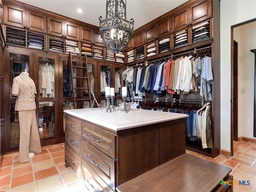
[[[46,15],[4,3],[4,24],[46,33]]]

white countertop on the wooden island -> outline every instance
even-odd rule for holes
[[[141,109],[132,109],[127,113],[117,109],[106,112],[106,108],[70,109],[64,112],[115,131],[188,117],[186,114]]]

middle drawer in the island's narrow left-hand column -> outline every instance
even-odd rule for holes
[[[81,139],[80,136],[74,134],[68,128],[66,129],[66,144],[81,157]]]

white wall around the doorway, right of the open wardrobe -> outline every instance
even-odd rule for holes
[[[256,18],[255,0],[220,1],[220,148],[230,151],[231,26]]]

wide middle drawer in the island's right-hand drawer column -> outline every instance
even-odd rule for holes
[[[82,144],[82,160],[113,190],[115,189],[116,160],[86,142]]]

